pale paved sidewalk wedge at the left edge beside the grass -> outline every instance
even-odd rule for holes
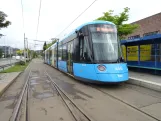
[[[0,73],[0,96],[12,84],[21,72]]]

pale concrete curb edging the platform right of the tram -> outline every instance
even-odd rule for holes
[[[151,82],[144,79],[129,77],[129,81],[127,83],[139,85],[145,88],[149,88],[155,91],[161,92],[161,83]]]

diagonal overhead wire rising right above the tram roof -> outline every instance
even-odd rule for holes
[[[83,13],[85,13],[97,0],[94,0],[82,13],[80,13],[66,28],[64,28],[56,37],[69,28]]]

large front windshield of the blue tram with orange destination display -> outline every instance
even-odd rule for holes
[[[91,32],[94,61],[95,62],[118,62],[121,58],[120,44],[114,26],[97,26]]]

